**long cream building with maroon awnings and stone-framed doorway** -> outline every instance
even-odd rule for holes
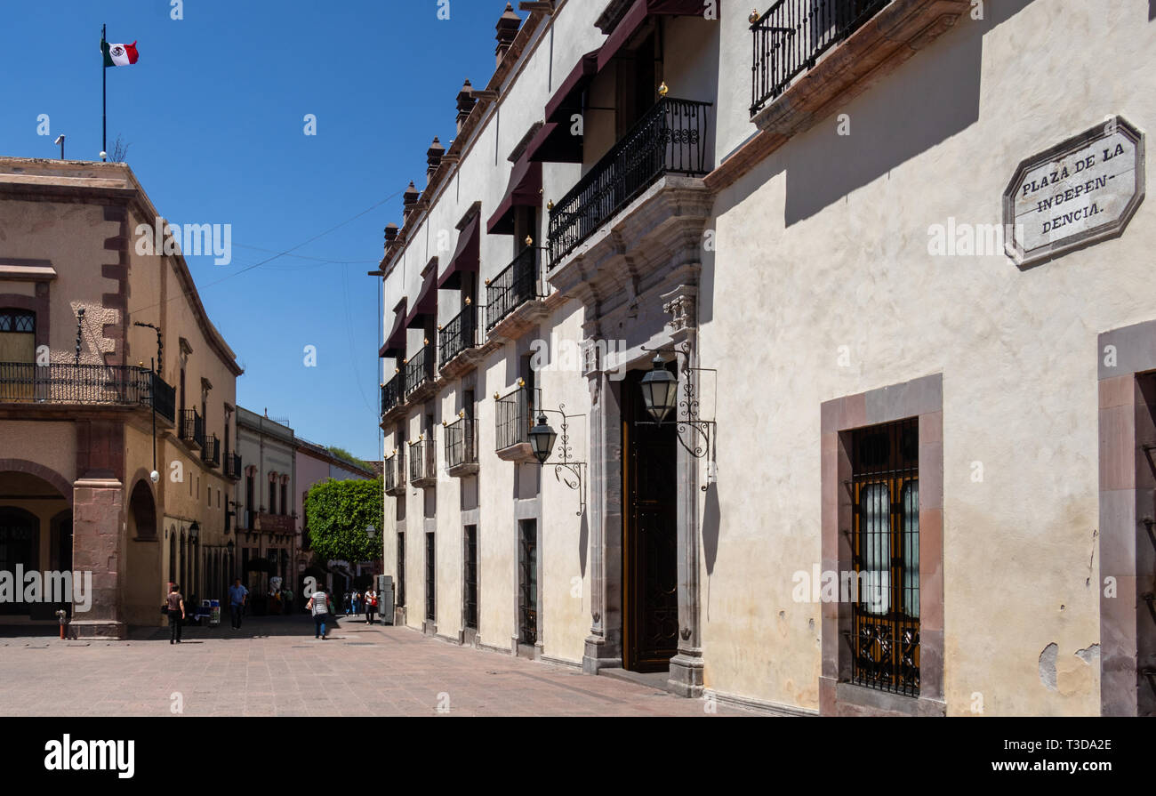
[[[520,5],[385,231],[397,620],[771,713],[1151,715],[1151,3]]]

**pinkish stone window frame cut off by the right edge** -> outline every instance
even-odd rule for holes
[[[1101,715],[1148,715],[1156,699],[1136,676],[1139,622],[1151,621],[1141,595],[1156,587],[1156,577],[1143,583],[1139,573],[1156,555],[1156,537],[1143,522],[1156,507],[1153,477],[1140,467],[1150,466],[1141,444],[1156,436],[1156,397],[1144,395],[1144,382],[1151,390],[1156,374],[1156,320],[1102,332],[1097,346]],[[1114,597],[1105,594],[1106,577],[1116,578]]]

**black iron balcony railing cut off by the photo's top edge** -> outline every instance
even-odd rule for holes
[[[815,66],[831,46],[855,32],[891,0],[778,0],[754,34],[750,115]]]

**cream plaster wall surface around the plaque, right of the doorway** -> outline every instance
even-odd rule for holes
[[[1076,657],[1101,634],[1096,338],[1156,316],[1156,211],[1027,272],[927,253],[931,224],[1000,223],[1022,159],[1111,113],[1154,127],[1148,5],[1098,6],[990,5],[840,108],[850,138],[823,119],[719,197],[702,360],[749,389],[719,390],[709,687],[817,708],[820,606],[791,575],[820,561],[820,404],[942,373],[948,712],[979,693],[987,714],[1098,714],[1098,661]],[[913,97],[961,109],[904,112]],[[1039,673],[1053,642],[1058,691]]]

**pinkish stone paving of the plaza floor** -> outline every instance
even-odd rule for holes
[[[0,637],[0,715],[706,716],[748,715],[653,687],[497,653],[409,628],[343,619],[326,641],[307,617],[250,618],[236,631],[134,631],[128,641]],[[350,643],[353,642],[353,643]]]

